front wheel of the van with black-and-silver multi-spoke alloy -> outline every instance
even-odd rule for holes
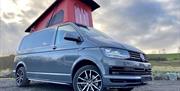
[[[80,68],[73,78],[74,91],[104,91],[103,80],[96,66]]]

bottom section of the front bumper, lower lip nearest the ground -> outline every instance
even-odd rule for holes
[[[142,76],[104,76],[104,85],[108,88],[132,88],[135,86],[145,85],[151,81],[151,75]]]

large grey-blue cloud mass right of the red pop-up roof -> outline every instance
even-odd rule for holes
[[[97,28],[118,41],[135,45],[146,52],[161,49],[172,52],[172,49],[180,46],[179,16],[170,13],[180,12],[180,9],[167,9],[167,2],[156,0],[127,1],[129,4],[126,6],[114,6],[107,2],[108,7],[97,10],[97,13],[101,12],[94,16],[99,24]],[[125,4],[126,1],[121,3]],[[173,5],[179,6],[175,0]]]

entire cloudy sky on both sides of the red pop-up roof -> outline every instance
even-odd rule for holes
[[[180,0],[96,0],[94,27],[145,53],[180,47]],[[24,30],[54,0],[0,0],[0,55],[15,53]],[[180,48],[179,48],[180,49]]]

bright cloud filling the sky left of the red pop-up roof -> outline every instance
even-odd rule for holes
[[[0,51],[3,51],[3,54],[15,53],[21,39],[26,35],[25,29],[44,12],[47,5],[53,3],[52,0],[25,0],[27,8],[23,8],[25,6],[21,6],[21,3],[24,3],[22,1],[24,0],[0,1],[1,5],[9,4],[9,7],[14,8],[6,11],[3,9],[8,9],[8,6],[0,7]]]

